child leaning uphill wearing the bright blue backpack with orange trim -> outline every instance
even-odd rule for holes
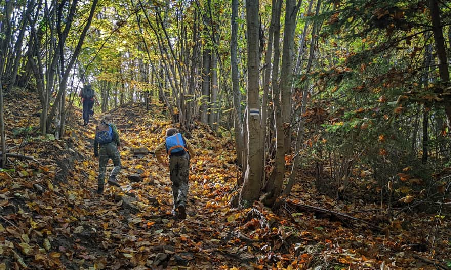
[[[168,162],[162,158],[163,150],[166,150],[169,156],[169,179],[172,182],[173,198],[171,214],[177,216],[179,219],[185,219],[187,217],[186,207],[190,158],[195,155],[194,148],[185,137],[178,133],[177,129],[168,128],[166,130],[165,142],[159,144],[155,149],[155,156],[158,163],[168,166]]]

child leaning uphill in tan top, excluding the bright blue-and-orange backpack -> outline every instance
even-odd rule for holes
[[[172,136],[178,133],[177,129],[169,128],[166,130],[166,137]],[[190,173],[190,158],[195,155],[195,151],[191,143],[182,137],[186,143],[186,150],[182,155],[170,155],[169,156],[169,179],[172,182],[172,198],[173,207],[172,215],[177,216],[179,219],[185,219],[187,217],[185,209],[187,205],[188,195],[188,177]],[[163,161],[162,153],[166,151],[166,143],[163,142],[155,149],[155,156],[158,163],[168,166],[168,162]],[[178,213],[177,213],[178,212]]]

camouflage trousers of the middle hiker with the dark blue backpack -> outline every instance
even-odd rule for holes
[[[116,177],[122,168],[120,153],[117,150],[117,145],[114,142],[101,144],[99,147],[99,175],[97,177],[99,187],[103,187],[105,184],[105,171],[107,170],[107,164],[110,159],[113,160],[114,164],[110,177]]]

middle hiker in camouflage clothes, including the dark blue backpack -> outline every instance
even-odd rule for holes
[[[104,193],[105,171],[110,159],[113,160],[114,168],[108,178],[108,184],[120,187],[116,180],[116,176],[122,168],[120,162],[120,139],[117,127],[112,123],[113,117],[109,114],[105,115],[95,129],[94,138],[94,156],[99,162],[99,174],[97,178],[97,193]],[[97,150],[97,148],[99,148]]]

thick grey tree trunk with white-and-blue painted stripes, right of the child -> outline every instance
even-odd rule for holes
[[[263,142],[260,125],[260,97],[259,97],[259,66],[258,66],[258,0],[246,2],[246,26],[247,26],[247,129],[248,129],[248,155],[247,166],[244,173],[244,183],[240,191],[239,201],[241,207],[252,205],[260,194],[263,164],[261,156],[263,154]]]

